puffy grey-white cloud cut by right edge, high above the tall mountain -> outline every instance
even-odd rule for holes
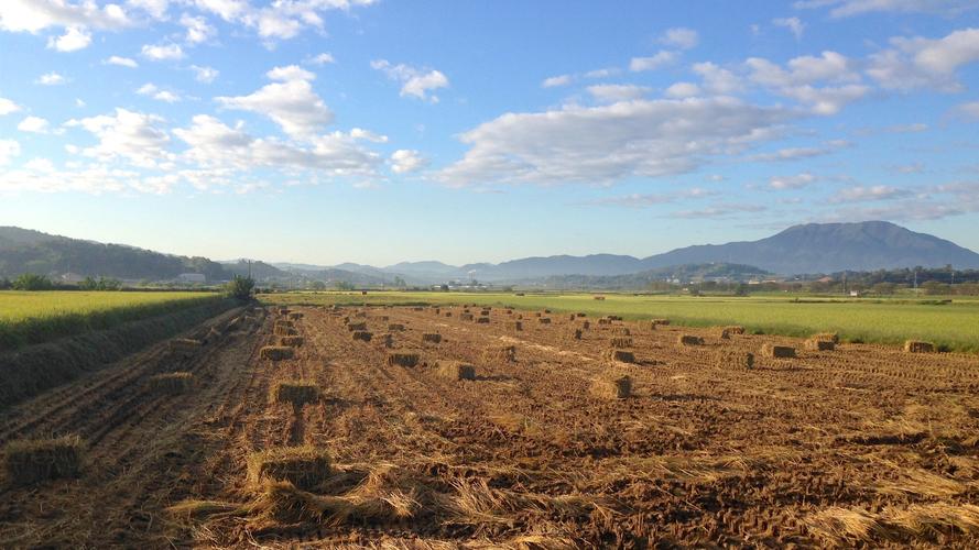
[[[892,47],[871,54],[867,74],[889,89],[934,88],[960,91],[959,67],[979,61],[979,29],[943,38],[893,37]]]

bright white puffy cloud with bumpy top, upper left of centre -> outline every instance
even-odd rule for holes
[[[309,138],[333,122],[333,112],[309,84],[316,76],[296,65],[275,67],[265,74],[272,80],[248,96],[215,98],[228,109],[264,114],[293,138]]]

